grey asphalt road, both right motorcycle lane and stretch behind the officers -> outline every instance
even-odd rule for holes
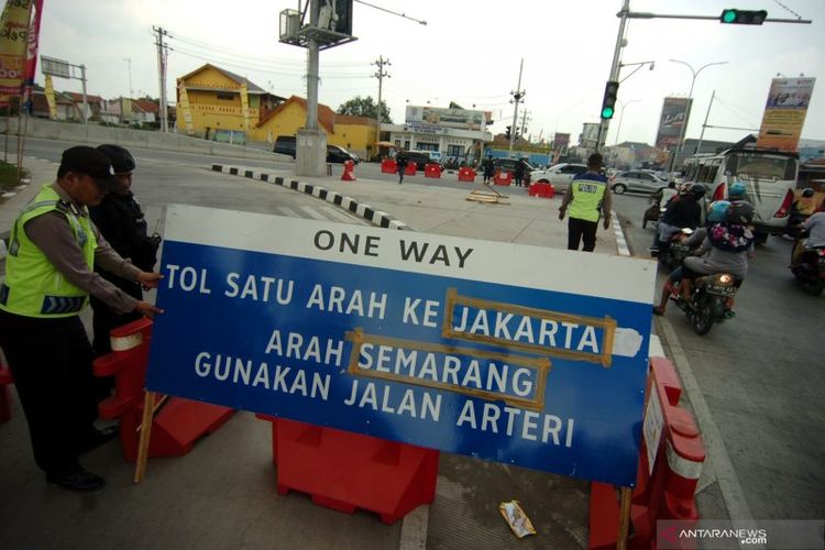
[[[26,154],[56,162],[69,145],[29,140]],[[142,150],[133,153],[139,166],[135,193],[143,198],[150,220],[160,219],[168,202],[355,220],[348,213],[332,213],[331,207],[311,197],[204,169],[213,162],[273,169],[290,169],[292,163]],[[395,180],[374,164],[361,164],[356,173],[359,177]],[[422,176],[416,178],[424,180]],[[453,175],[427,184],[458,186]],[[640,227],[646,205],[644,196],[614,197],[631,252],[642,257],[652,238],[651,228]],[[373,206],[389,213],[397,208]],[[449,234],[451,226],[439,227],[439,231]],[[758,248],[737,296],[737,317],[714,327],[707,336],[693,333],[678,308],[669,308],[666,317],[654,321],[667,346],[683,358],[678,366],[695,377],[697,393],[692,398],[702,403],[693,405],[697,415],[705,416],[700,416],[700,424],[706,438],[717,433],[724,443],[724,449],[710,453],[706,468],[713,465],[726,474],[722,493],[728,504],[736,502],[730,492],[741,492],[743,502],[732,509],[756,519],[825,517],[825,408],[821,404],[825,370],[816,354],[821,328],[825,327],[825,297],[811,297],[794,283],[787,268],[790,249],[791,243],[779,238]],[[661,283],[664,274],[659,278]],[[684,378],[685,373],[682,375]]]

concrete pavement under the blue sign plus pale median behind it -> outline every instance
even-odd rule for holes
[[[25,165],[32,185],[0,200],[0,233],[40,185],[54,178],[52,163],[26,158]],[[279,175],[369,204],[416,231],[548,248],[566,243],[558,197],[540,199],[528,197],[525,189],[497,188],[510,196],[512,205],[485,205],[465,200],[480,184],[449,189],[428,186],[422,177],[405,178],[399,186]],[[613,228],[600,228],[596,251],[616,250]],[[0,546],[9,549],[573,549],[587,541],[586,481],[462,455],[441,454],[433,505],[393,526],[370,513],[350,516],[316,506],[306,495],[280,496],[270,424],[251,413],[235,414],[186,457],[151,460],[141,485],[132,484],[133,464],[123,461],[117,443],[88,453],[84,465],[108,481],[106,490],[88,495],[47,486],[31,459],[26,433],[14,396],[12,419],[0,425]],[[514,498],[538,536],[519,541],[502,519],[498,504]]]

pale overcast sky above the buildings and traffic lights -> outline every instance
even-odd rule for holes
[[[355,96],[377,98],[374,64],[385,67],[383,97],[395,123],[407,105],[448,107],[451,101],[492,111],[492,131],[512,124],[512,94],[519,89],[526,133],[557,132],[575,142],[584,122],[598,122],[605,81],[617,42],[622,0],[370,0],[355,2],[355,42],[320,53],[319,101],[332,109]],[[298,0],[44,0],[42,55],[85,65],[87,92],[158,97],[153,26],[165,29],[167,97],[175,81],[205,63],[226,68],[283,97],[306,97],[306,50],[278,42],[278,14]],[[382,8],[381,10],[375,8]],[[825,1],[630,0],[630,11],[718,15],[725,8],[765,9],[773,19],[812,24],[724,25],[717,21],[634,19],[622,52],[619,106],[607,144],[650,143],[667,96],[694,107],[686,132],[737,141],[759,128],[771,79],[816,77],[803,139],[825,140]],[[406,14],[406,18],[387,11]],[[426,21],[426,25],[417,21]],[[684,63],[675,63],[678,59]],[[654,62],[640,65],[635,63]],[[725,65],[706,64],[726,62]],[[686,65],[685,65],[686,64]],[[689,67],[690,66],[690,67]],[[704,67],[704,68],[702,68]],[[692,75],[697,72],[695,79]],[[40,70],[40,68],[38,68]],[[632,74],[631,74],[632,73]],[[43,84],[43,75],[37,75]],[[55,88],[80,91],[77,79]],[[712,94],[715,99],[711,105]],[[708,113],[708,106],[711,110]],[[620,124],[619,124],[620,122]],[[618,135],[617,135],[618,133]]]

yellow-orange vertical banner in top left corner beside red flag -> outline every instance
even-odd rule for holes
[[[20,96],[26,63],[29,2],[6,2],[0,15],[0,96]]]

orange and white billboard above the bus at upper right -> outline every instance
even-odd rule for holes
[[[816,78],[774,78],[765,105],[757,147],[796,151]]]

